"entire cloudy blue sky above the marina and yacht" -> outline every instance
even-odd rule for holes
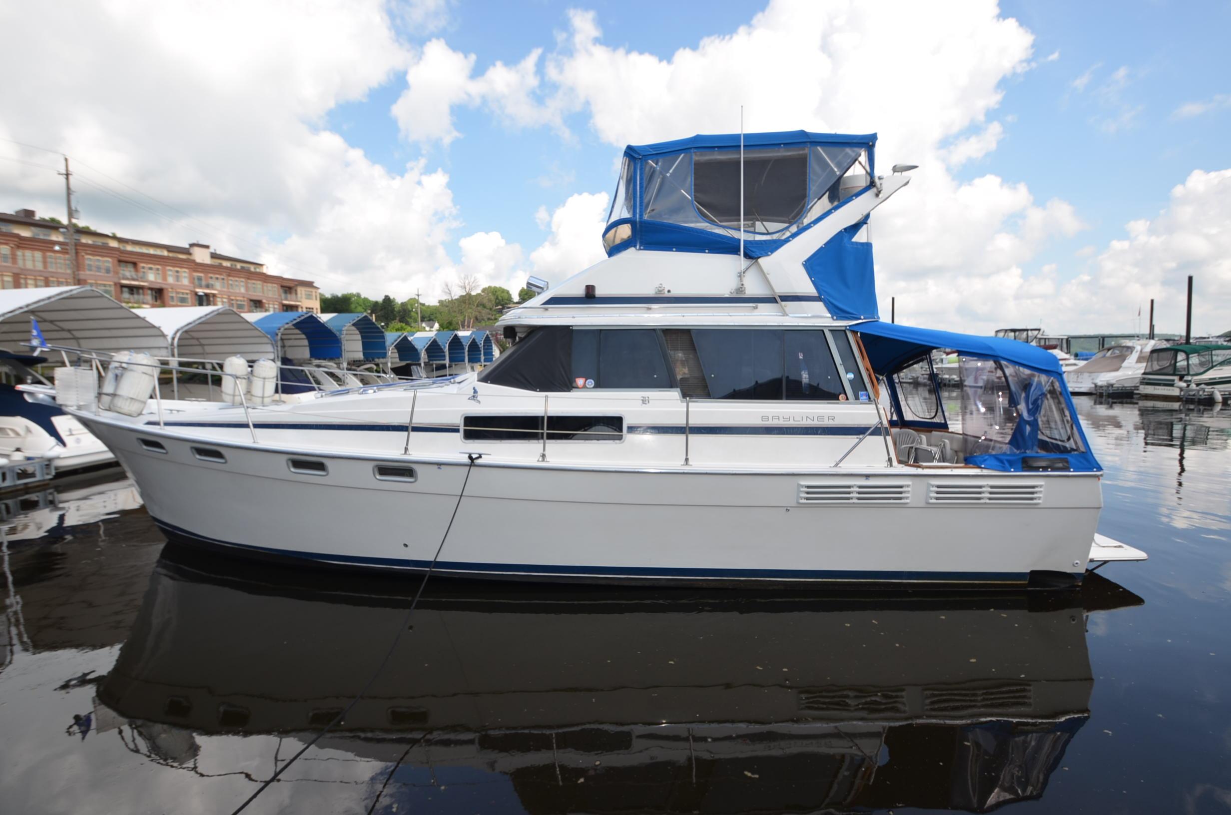
[[[65,151],[86,223],[326,291],[563,279],[602,256],[624,143],[744,103],[921,165],[873,218],[883,310],[1125,330],[1157,298],[1174,329],[1194,275],[1198,326],[1231,327],[1226,0],[112,0],[0,30],[0,70],[41,78],[0,89],[7,207],[63,209],[16,143]]]

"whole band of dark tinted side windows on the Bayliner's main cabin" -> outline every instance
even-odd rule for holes
[[[840,329],[549,326],[515,343],[479,380],[539,393],[678,388],[692,399],[869,399]]]

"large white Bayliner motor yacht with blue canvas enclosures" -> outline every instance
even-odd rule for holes
[[[478,374],[73,412],[169,537],[254,556],[860,587],[1073,584],[1144,559],[1096,534],[1102,469],[1051,353],[876,319],[867,223],[912,167],[878,175],[874,145],[629,147],[608,257],[532,281]],[[958,355],[955,414],[937,350]]]

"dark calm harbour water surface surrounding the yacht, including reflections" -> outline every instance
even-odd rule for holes
[[[1231,410],[1078,407],[1101,531],[1149,563],[974,596],[439,582],[246,811],[1231,810]],[[95,481],[0,510],[0,811],[230,813],[364,688],[412,581],[164,549]]]

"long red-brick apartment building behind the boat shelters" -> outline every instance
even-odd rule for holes
[[[68,233],[33,209],[0,212],[0,287],[73,286]],[[313,311],[311,281],[268,275],[265,266],[209,251],[76,230],[78,283],[132,305],[229,305],[236,311]]]

